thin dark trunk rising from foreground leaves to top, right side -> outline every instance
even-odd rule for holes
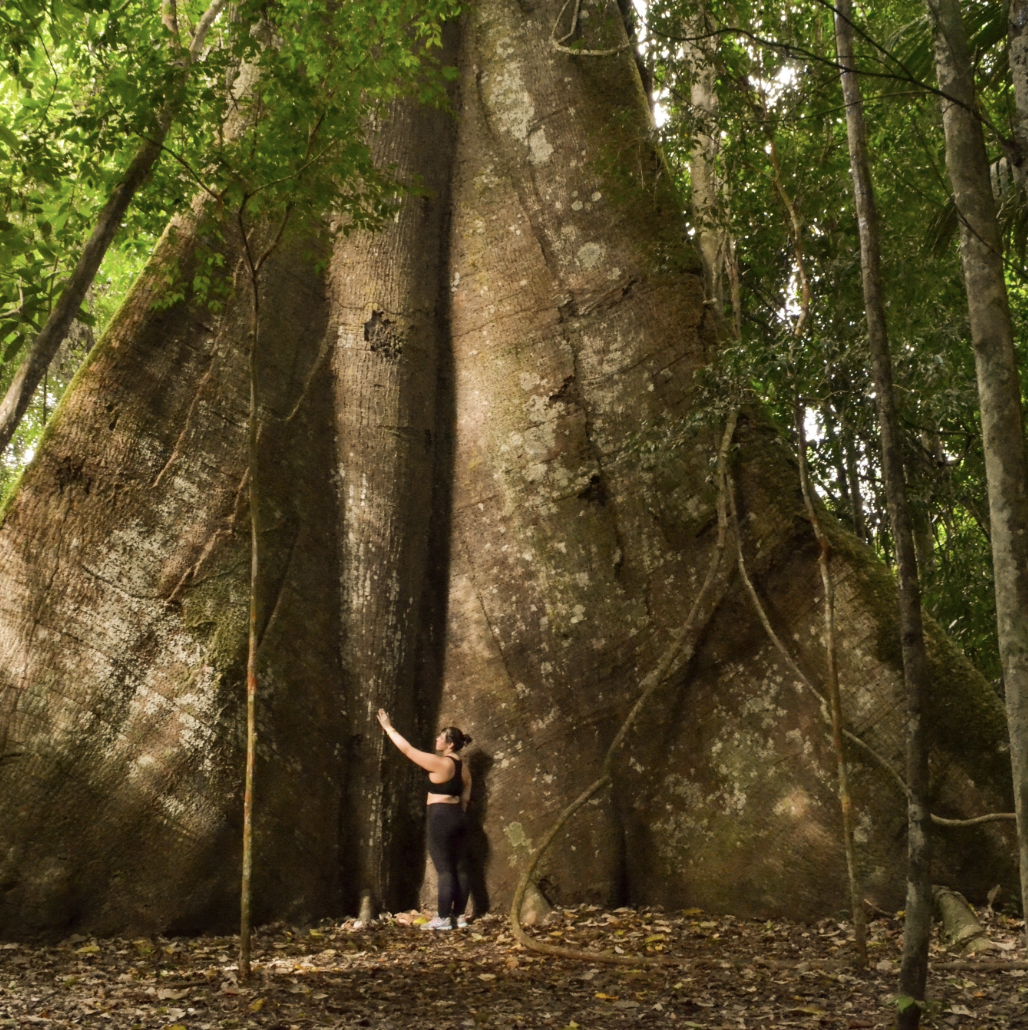
[[[867,318],[875,403],[882,440],[882,479],[886,507],[896,546],[899,579],[899,632],[902,641],[903,680],[906,687],[907,871],[906,917],[903,923],[903,960],[899,972],[901,996],[924,1001],[928,976],[928,942],[931,936],[931,811],[928,806],[928,741],[925,709],[929,702],[928,662],[925,655],[914,525],[906,499],[902,438],[892,379],[892,354],[885,319],[882,289],[882,246],[878,208],[871,183],[870,159],[863,103],[853,56],[853,4],[838,0],[835,8],[835,48],[838,55],[850,170],[860,234],[860,268]],[[916,1027],[921,1006],[899,1012],[899,1025]]]

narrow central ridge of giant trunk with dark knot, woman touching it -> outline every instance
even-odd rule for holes
[[[441,60],[456,62],[457,26]],[[342,560],[341,663],[349,726],[347,903],[362,918],[409,907],[421,867],[424,779],[388,744],[375,719],[416,726],[431,748],[438,682],[419,675],[430,589],[434,484],[447,475],[445,371],[447,222],[455,125],[413,100],[385,112],[374,157],[400,181],[422,184],[399,201],[395,220],[343,238],[333,253],[330,323]],[[441,424],[442,423],[442,424]],[[445,547],[445,543],[443,544]],[[431,677],[429,678],[431,681]],[[423,687],[425,696],[420,695]],[[405,730],[407,731],[407,730]],[[384,742],[384,750],[383,750]]]

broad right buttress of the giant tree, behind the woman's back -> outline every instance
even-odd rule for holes
[[[647,142],[630,56],[553,53],[557,9],[476,5],[462,60],[443,697],[445,718],[464,720],[491,758],[484,822],[494,898],[509,897],[526,849],[595,778],[636,684],[688,608],[714,535],[713,435],[677,451],[663,445],[695,410],[693,373],[716,345],[699,264]],[[759,423],[744,421],[740,439],[753,572],[780,633],[819,676],[816,548],[795,469]],[[902,767],[894,584],[851,538],[839,534],[836,550],[839,678],[860,685],[846,715]],[[948,695],[930,731],[957,750],[933,784],[934,803],[1002,803],[997,702],[937,633],[930,660]],[[981,734],[973,758],[958,710]],[[579,817],[547,859],[551,900],[803,917],[845,903],[817,702],[783,673],[741,592],[626,752],[613,797]],[[893,904],[905,879],[905,798],[852,758],[868,890]],[[981,761],[987,776],[973,770]],[[974,797],[970,781],[992,786]],[[987,834],[982,852],[998,864],[972,873],[965,834],[944,846],[949,876],[973,876],[980,888],[985,866],[1009,877],[999,857],[1008,835]]]

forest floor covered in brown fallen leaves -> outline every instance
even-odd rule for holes
[[[1023,924],[988,915],[1000,946],[983,962],[1025,964]],[[515,943],[496,916],[467,930],[420,929],[416,913],[314,929],[266,927],[240,984],[234,937],[85,938],[0,945],[0,1027],[109,1030],[621,1030],[632,1027],[889,1027],[901,924],[870,925],[870,969],[847,961],[849,927],[717,918],[696,909],[582,906],[529,932],[552,943],[675,956],[663,968],[567,961]],[[1028,1028],[1028,972],[944,969],[923,1025]],[[975,960],[969,960],[974,962]],[[791,965],[791,963],[796,963]]]

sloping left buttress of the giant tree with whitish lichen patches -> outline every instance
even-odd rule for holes
[[[155,309],[169,269],[192,277],[195,242],[192,219],[166,234],[4,513],[5,932],[189,930],[236,916],[249,311],[245,283],[220,314]],[[300,402],[325,315],[310,249],[298,243],[270,270],[263,327],[261,919],[308,918],[339,897],[323,380]]]

